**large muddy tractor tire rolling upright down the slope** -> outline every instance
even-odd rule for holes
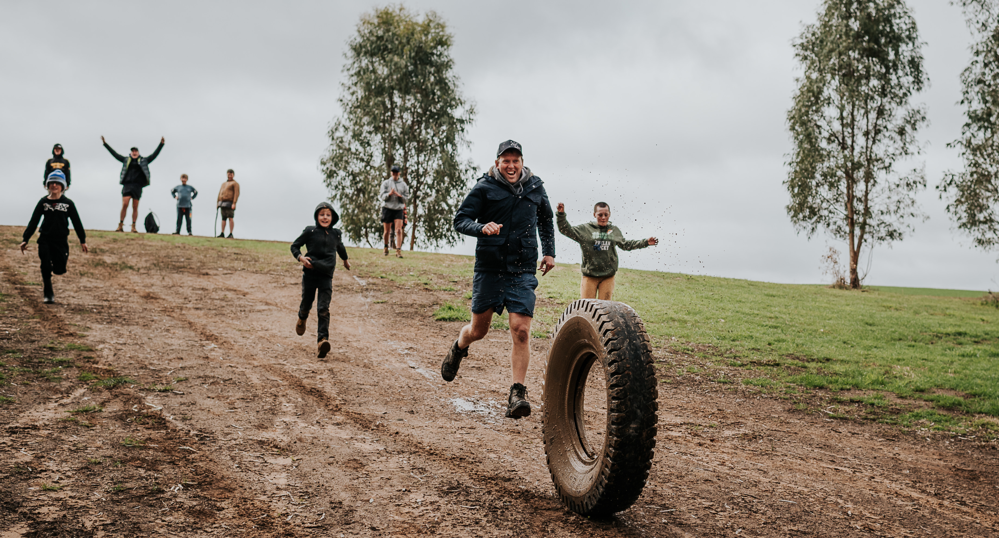
[[[543,396],[548,470],[570,510],[607,515],[641,495],[657,397],[651,346],[635,311],[614,301],[570,304],[555,326]]]

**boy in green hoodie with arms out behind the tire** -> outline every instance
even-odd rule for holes
[[[565,218],[565,204],[559,203],[556,219],[558,232],[579,243],[582,247],[582,282],[579,298],[609,301],[614,292],[614,274],[617,273],[617,250],[634,250],[659,244],[654,237],[628,241],[620,229],[610,224],[610,206],[596,202],[593,217],[596,222],[572,226]]]

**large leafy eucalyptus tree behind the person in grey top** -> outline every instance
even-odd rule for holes
[[[410,249],[458,241],[452,220],[475,173],[460,154],[475,108],[460,93],[453,39],[433,11],[418,18],[394,6],[361,17],[321,161],[351,240],[381,234],[379,187],[399,165],[410,186]]]

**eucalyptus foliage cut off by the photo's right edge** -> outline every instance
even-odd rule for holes
[[[948,144],[958,148],[964,170],[948,171],[937,185],[947,199],[947,212],[975,246],[999,246],[999,2],[960,0],[975,38],[971,62],[961,73],[965,121],[961,137]]]

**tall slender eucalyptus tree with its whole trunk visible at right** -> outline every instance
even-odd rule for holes
[[[902,0],[825,0],[793,44],[802,74],[787,112],[785,209],[809,238],[823,230],[846,241],[854,289],[861,250],[901,240],[924,218],[915,199],[926,187],[922,165],[899,169],[920,152],[926,122],[911,103],[929,82],[921,46]]]

